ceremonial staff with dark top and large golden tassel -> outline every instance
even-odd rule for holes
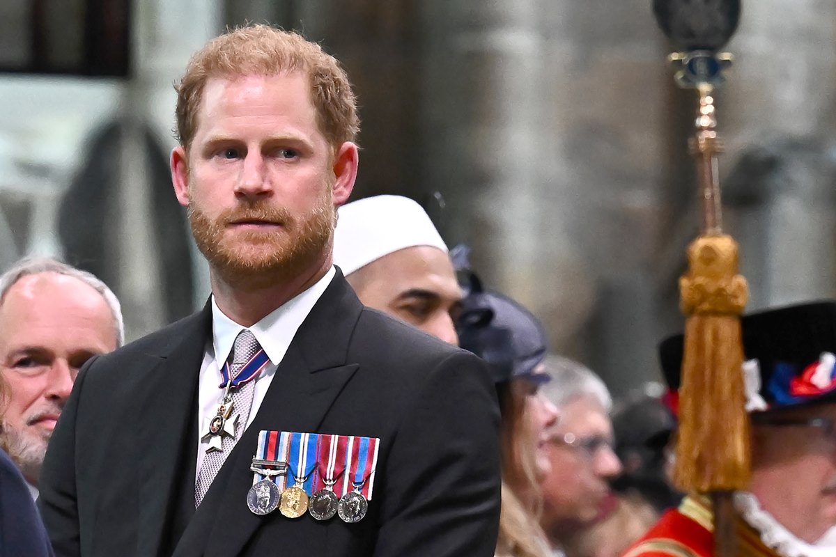
[[[688,271],[680,278],[686,315],[674,481],[691,494],[707,494],[714,509],[717,557],[737,555],[735,490],[751,473],[749,417],[743,390],[740,315],[746,279],[737,274],[737,243],[722,233],[713,93],[732,61],[718,53],[732,37],[740,0],[654,0],[660,28],[680,52],[670,55],[676,83],[696,89],[700,106],[691,152],[702,205],[701,234],[688,246]]]

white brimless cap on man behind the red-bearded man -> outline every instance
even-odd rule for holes
[[[413,246],[447,246],[426,211],[400,195],[366,197],[339,208],[334,265],[345,276],[383,256]]]

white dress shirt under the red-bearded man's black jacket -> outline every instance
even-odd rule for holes
[[[247,418],[247,427],[256,417],[258,408],[261,407],[264,400],[264,395],[267,394],[268,387],[270,387],[270,382],[273,381],[273,376],[276,374],[276,368],[282,362],[285,353],[288,352],[290,342],[296,336],[298,328],[313,309],[314,304],[319,301],[319,296],[322,296],[325,289],[328,288],[328,285],[334,279],[334,275],[336,275],[336,271],[332,266],[325,273],[325,276],[308,290],[303,291],[292,300],[288,300],[252,327],[248,327],[256,337],[258,344],[267,353],[270,362],[255,378],[255,393],[252,397],[250,415]],[[206,342],[206,352],[203,354],[201,374],[198,378],[197,424],[201,435],[206,427],[206,421],[212,419],[217,413],[217,405],[223,395],[223,389],[218,387],[221,384],[221,368],[232,352],[232,344],[235,342],[235,338],[244,328],[246,327],[238,325],[224,315],[215,303],[215,296],[212,296],[212,339]],[[241,425],[240,423],[237,424],[238,427],[241,427]],[[208,441],[201,441],[198,438],[196,468],[198,473],[200,473],[208,444]]]

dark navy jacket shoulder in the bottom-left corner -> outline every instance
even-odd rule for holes
[[[47,557],[49,539],[18,468],[0,450],[0,557]]]

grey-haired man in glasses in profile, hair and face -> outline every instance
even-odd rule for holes
[[[609,480],[621,472],[621,462],[613,451],[612,398],[604,382],[563,357],[548,357],[546,368],[552,381],[541,392],[558,408],[560,421],[548,445],[541,524],[557,550],[613,508]]]

